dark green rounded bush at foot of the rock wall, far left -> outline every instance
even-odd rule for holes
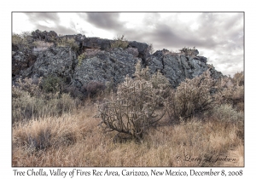
[[[42,88],[46,93],[56,93],[63,88],[64,80],[62,78],[49,75],[44,78],[42,82]]]

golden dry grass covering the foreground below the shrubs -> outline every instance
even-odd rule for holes
[[[12,165],[244,165],[243,139],[237,135],[239,133],[241,136],[243,131],[240,124],[214,118],[206,122],[192,118],[186,123],[151,129],[140,144],[135,141],[113,143],[115,133],[104,132],[98,126],[101,119],[93,118],[95,113],[95,108],[85,107],[61,117],[39,118],[26,124],[15,124]],[[34,145],[35,141],[38,142],[38,148]]]

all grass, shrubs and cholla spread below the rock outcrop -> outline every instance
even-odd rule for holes
[[[134,76],[116,93],[105,93],[106,100],[97,103],[100,118],[90,99],[79,107],[78,99],[60,92],[61,79],[19,80],[12,89],[12,165],[244,165],[241,72],[219,81],[205,72],[177,89],[160,71],[151,75],[140,63]],[[92,81],[84,90],[96,97],[106,86]],[[217,160],[226,156],[232,160]]]

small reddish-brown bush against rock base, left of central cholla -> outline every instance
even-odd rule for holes
[[[87,91],[87,94],[89,97],[96,96],[99,92],[106,89],[105,84],[102,84],[98,81],[90,81],[86,86],[84,87]]]

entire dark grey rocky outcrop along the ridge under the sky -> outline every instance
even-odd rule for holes
[[[79,44],[79,50],[73,51],[70,47],[58,47],[56,44],[47,50],[20,52],[13,45],[13,79],[15,78],[39,78],[55,75],[66,78],[67,83],[76,89],[90,81],[98,81],[106,84],[113,81],[114,84],[122,83],[125,76],[132,76],[135,72],[135,64],[142,61],[144,67],[154,73],[162,72],[172,84],[177,87],[185,78],[195,78],[207,69],[211,69],[212,77],[219,78],[221,72],[217,72],[213,66],[207,64],[207,58],[197,56],[198,50],[192,53],[171,53],[167,49],[157,50],[149,55],[148,44],[129,42],[127,47],[137,49],[139,55],[134,56],[122,48],[111,49],[113,40],[102,38],[86,38],[85,36],[71,35],[58,37],[55,32],[32,32],[34,40],[44,39],[53,42],[59,38],[73,38]],[[86,49],[97,49],[93,55],[85,55],[80,59],[79,55]]]

